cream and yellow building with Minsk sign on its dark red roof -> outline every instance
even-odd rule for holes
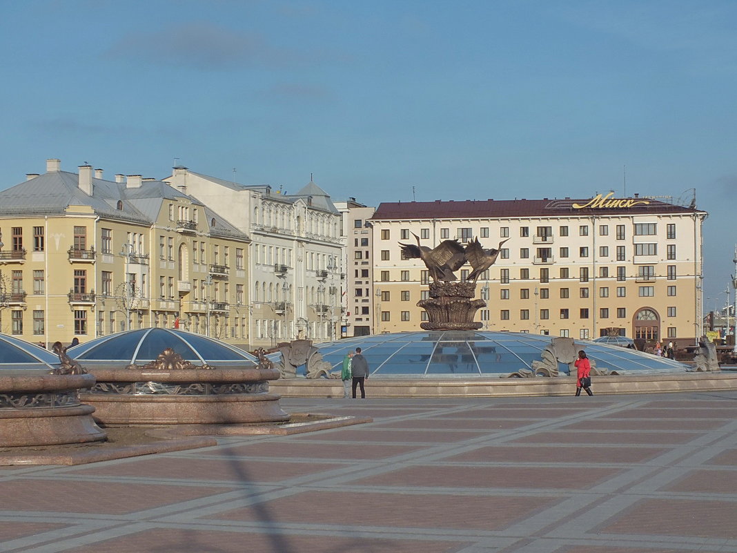
[[[399,242],[500,248],[478,280],[486,330],[572,338],[611,332],[647,341],[702,335],[702,223],[707,213],[654,198],[383,203],[374,227],[374,332],[419,330],[427,271]],[[506,240],[502,246],[499,244]],[[458,271],[463,279],[467,265]]]

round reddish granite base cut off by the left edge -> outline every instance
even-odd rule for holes
[[[78,393],[94,383],[92,375],[0,375],[0,447],[105,439]]]

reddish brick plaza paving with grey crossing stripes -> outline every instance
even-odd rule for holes
[[[737,392],[282,406],[374,422],[0,467],[0,552],[737,553]]]

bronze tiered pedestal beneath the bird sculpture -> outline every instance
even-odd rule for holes
[[[420,323],[425,330],[475,330],[483,326],[473,318],[481,307],[486,307],[483,299],[473,299],[476,293],[475,282],[432,282],[430,298],[417,302],[418,307],[427,311],[427,321]]]

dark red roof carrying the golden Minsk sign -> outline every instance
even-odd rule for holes
[[[606,198],[606,197],[605,197]],[[562,200],[466,200],[466,201],[411,201],[382,202],[371,220],[383,219],[490,219],[490,218],[539,218],[576,217],[582,215],[657,215],[696,213],[699,209],[666,204],[648,198],[628,198],[638,203],[632,206],[584,207],[576,209],[573,204],[586,205],[593,198]],[[614,199],[614,198],[611,198]],[[604,201],[607,201],[604,199]]]

